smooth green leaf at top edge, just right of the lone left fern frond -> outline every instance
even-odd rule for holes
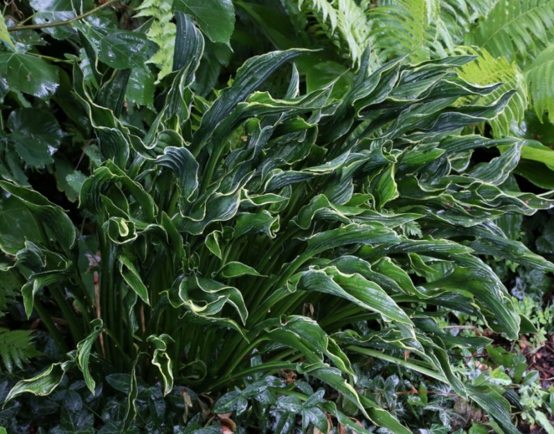
[[[229,44],[235,28],[235,8],[231,0],[175,0],[173,8],[195,17],[200,30],[212,42]]]

